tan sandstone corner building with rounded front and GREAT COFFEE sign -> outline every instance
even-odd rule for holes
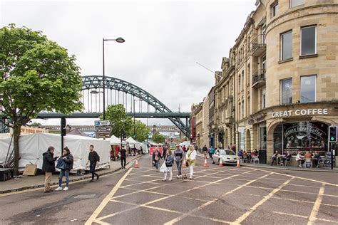
[[[328,136],[338,125],[337,0],[257,1],[222,68],[215,113],[230,118],[224,83],[234,77],[235,122],[217,128],[231,137],[231,127],[237,150],[267,150],[269,163],[275,150],[336,148]]]

